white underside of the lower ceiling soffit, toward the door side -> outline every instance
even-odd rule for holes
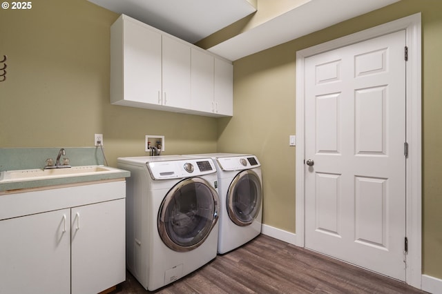
[[[208,50],[235,61],[398,1],[311,0]]]

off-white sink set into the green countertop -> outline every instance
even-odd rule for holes
[[[102,175],[119,173],[121,170],[109,166],[73,166],[71,168],[7,170],[0,172],[0,184],[6,182],[34,181],[39,179],[55,179],[59,177],[81,177],[86,175]]]

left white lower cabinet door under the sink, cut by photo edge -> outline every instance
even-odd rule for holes
[[[0,221],[0,293],[70,293],[70,210]]]

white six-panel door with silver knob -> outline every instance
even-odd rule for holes
[[[305,59],[305,246],[405,281],[405,30]]]

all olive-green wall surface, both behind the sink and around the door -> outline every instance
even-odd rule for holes
[[[262,162],[264,223],[295,233],[296,50],[422,12],[423,273],[442,278],[442,1],[402,0],[234,62],[234,116],[109,103],[109,27],[118,15],[86,0],[33,1],[0,10],[0,148],[93,146],[106,157],[142,156],[144,135],[166,136],[165,154],[254,153]]]

